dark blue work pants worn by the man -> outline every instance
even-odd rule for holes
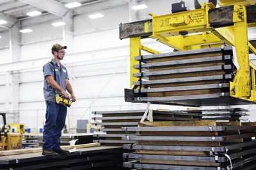
[[[61,131],[65,126],[67,107],[52,101],[45,101],[46,114],[43,132],[43,151],[60,150]]]

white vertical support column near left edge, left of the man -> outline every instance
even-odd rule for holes
[[[12,62],[20,60],[20,22],[10,29],[10,56]],[[19,123],[19,71],[8,71],[6,73],[6,103],[5,110],[13,112],[13,120],[10,123]],[[8,118],[8,116],[7,116]]]

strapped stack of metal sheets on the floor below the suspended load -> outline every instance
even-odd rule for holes
[[[138,143],[124,145],[124,167],[142,169],[255,169],[256,124],[216,121],[143,122],[123,127],[140,135],[122,137]]]

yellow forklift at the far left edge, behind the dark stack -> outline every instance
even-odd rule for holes
[[[16,150],[21,149],[21,136],[19,133],[10,133],[10,125],[6,124],[6,113],[0,113],[3,117],[3,125],[1,125],[1,150]]]

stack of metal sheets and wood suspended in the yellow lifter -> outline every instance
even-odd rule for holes
[[[125,89],[125,101],[178,104],[186,106],[226,106],[250,101],[230,97],[229,81],[234,78],[232,46],[205,48],[135,57],[134,85],[145,89]]]

